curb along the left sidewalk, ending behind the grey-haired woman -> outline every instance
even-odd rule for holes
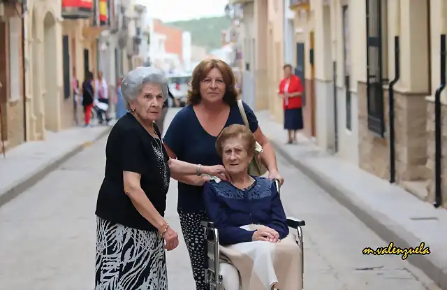
[[[104,136],[107,136],[108,133],[110,133],[110,130],[112,130],[112,126],[110,128],[105,129],[103,132],[101,132],[98,136],[96,136],[93,140],[89,140],[87,142],[84,142],[79,145],[75,145],[73,149],[71,149],[68,152],[65,152],[61,156],[50,160],[47,164],[41,166],[41,168],[37,168],[36,172],[31,173],[28,177],[25,177],[24,180],[20,180],[15,184],[12,188],[8,189],[4,194],[0,195],[0,208],[8,203],[9,201],[12,201],[17,196],[20,196],[20,194],[24,193],[27,189],[32,187],[34,184],[39,182],[43,179],[46,175],[51,173],[52,171],[56,170],[61,164],[63,164],[65,161],[70,159],[71,157],[75,156],[79,152],[85,149],[85,147],[90,146],[91,144],[95,143],[99,139],[103,138]]]

